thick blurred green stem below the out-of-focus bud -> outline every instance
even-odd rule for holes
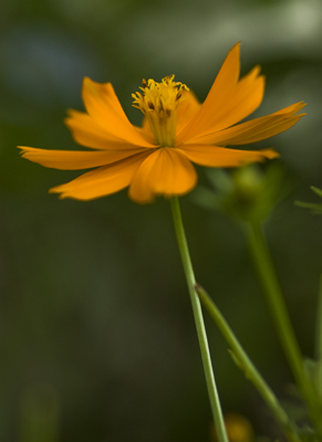
[[[274,272],[260,223],[250,223],[250,229],[248,232],[250,252],[260,276],[281,345],[288,358],[297,385],[302,392],[309,409],[311,409],[313,421],[315,421],[315,394],[304,371],[303,357],[298,345],[290,317],[288,315],[282,291]]]

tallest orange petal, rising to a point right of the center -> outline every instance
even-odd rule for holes
[[[222,106],[232,97],[240,72],[239,52],[239,43],[237,43],[229,51],[199,112],[183,129],[178,139],[179,144],[204,133],[204,128],[212,123],[212,116],[219,114]]]

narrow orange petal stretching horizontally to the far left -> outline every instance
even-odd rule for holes
[[[30,161],[38,162],[44,167],[61,170],[80,170],[92,167],[105,166],[118,161],[134,154],[146,151],[146,149],[131,150],[46,150],[34,147],[19,146],[22,149],[22,157]]]

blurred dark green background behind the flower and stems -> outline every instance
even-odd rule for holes
[[[23,160],[17,145],[76,149],[63,125],[83,109],[84,76],[111,81],[131,120],[143,77],[168,74],[207,95],[241,41],[242,74],[267,76],[262,116],[304,99],[308,116],[258,143],[273,146],[292,193],[266,232],[303,352],[313,355],[321,217],[298,208],[322,188],[320,0],[1,0],[0,3],[0,440],[209,441],[211,417],[168,201],[138,206],[126,191],[60,201],[48,189],[77,172]],[[206,182],[198,169],[200,182]],[[280,397],[291,376],[242,232],[181,198],[198,281],[216,297]],[[206,314],[207,316],[207,314]],[[261,399],[207,318],[225,412],[274,434]],[[46,441],[43,436],[42,441]]]

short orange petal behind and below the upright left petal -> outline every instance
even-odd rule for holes
[[[116,138],[104,130],[95,119],[84,112],[70,109],[65,124],[71,130],[74,140],[82,146],[101,150],[137,149],[137,145]]]

